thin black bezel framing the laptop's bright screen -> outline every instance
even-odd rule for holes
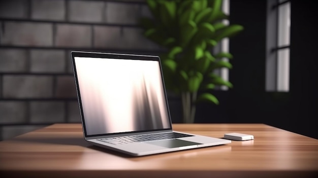
[[[83,52],[83,51],[72,51],[71,52],[71,56],[72,56],[72,66],[73,66],[73,73],[74,73],[74,78],[75,78],[75,85],[76,85],[76,91],[77,91],[78,104],[79,104],[81,121],[82,121],[82,126],[83,126],[83,131],[84,131],[85,138],[86,137],[107,136],[107,135],[117,135],[117,134],[122,135],[122,134],[142,133],[142,132],[150,132],[150,131],[168,131],[168,130],[172,130],[172,123],[171,123],[171,116],[170,116],[170,110],[169,110],[169,105],[168,105],[166,87],[165,87],[164,76],[163,76],[163,72],[162,72],[161,60],[160,60],[159,56],[135,55],[135,54],[117,54],[117,53],[100,53],[100,52]],[[164,97],[165,97],[165,102],[166,102],[166,108],[167,108],[168,118],[169,118],[169,123],[170,123],[169,128],[87,135],[86,127],[85,127],[85,119],[84,119],[84,114],[83,114],[83,108],[82,108],[81,94],[80,94],[80,89],[79,89],[79,84],[78,84],[78,77],[77,77],[77,72],[76,72],[75,57],[158,61],[159,67],[160,67],[160,71],[161,71],[161,78],[162,78],[162,84],[163,84],[163,90],[164,90],[163,92],[164,92],[164,95],[165,95]]]

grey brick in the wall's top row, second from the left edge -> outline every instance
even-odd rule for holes
[[[63,0],[33,0],[31,18],[39,20],[65,20]]]

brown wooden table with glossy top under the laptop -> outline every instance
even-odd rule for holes
[[[255,140],[130,157],[86,143],[80,124],[0,142],[1,177],[318,177],[318,140],[264,124],[173,124],[174,130]],[[4,176],[5,175],[5,176]]]

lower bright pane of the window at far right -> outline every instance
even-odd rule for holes
[[[277,91],[289,91],[290,49],[277,51]]]

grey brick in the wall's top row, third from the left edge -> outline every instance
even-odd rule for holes
[[[69,20],[103,22],[105,3],[102,1],[69,1]]]

